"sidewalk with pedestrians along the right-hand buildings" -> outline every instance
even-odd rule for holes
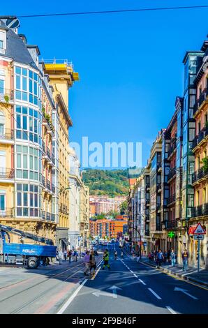
[[[140,262],[148,264],[151,267],[157,267],[156,262],[149,262],[148,258],[143,257],[142,261]],[[199,275],[196,268],[188,268],[188,270],[184,272],[182,270],[182,267],[180,267],[179,265],[171,267],[171,264],[168,263],[163,263],[160,269],[165,273],[172,274],[184,280],[193,281],[195,283],[208,287],[208,271],[205,269],[200,269]]]

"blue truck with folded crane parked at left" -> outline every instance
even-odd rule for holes
[[[19,235],[22,242],[24,239],[32,239],[46,245],[10,243],[10,233]],[[0,224],[1,264],[22,264],[27,265],[30,269],[36,269],[40,263],[47,264],[48,258],[55,258],[56,255],[57,246],[53,246],[52,239]]]

